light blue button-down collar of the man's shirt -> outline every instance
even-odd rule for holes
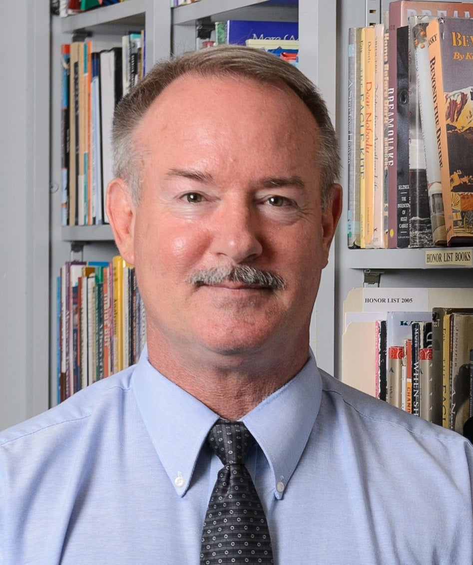
[[[132,388],[164,470],[177,494],[184,496],[203,442],[219,416],[151,366],[146,347],[134,369]],[[311,352],[289,383],[242,418],[270,464],[276,498],[282,498],[301,458],[321,396],[322,380]]]

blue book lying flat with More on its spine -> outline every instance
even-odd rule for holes
[[[227,20],[227,44],[245,45],[247,39],[298,40],[297,21]]]

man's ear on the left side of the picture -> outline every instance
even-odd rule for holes
[[[123,179],[110,182],[107,188],[106,209],[120,255],[127,263],[133,265],[136,207]]]

